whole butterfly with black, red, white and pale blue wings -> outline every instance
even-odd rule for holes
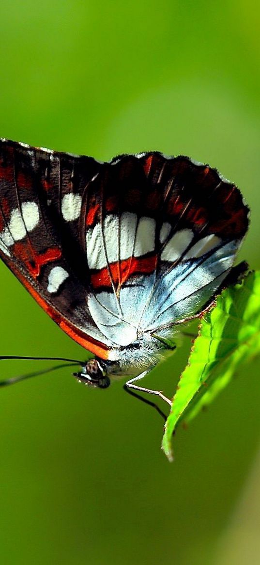
[[[0,141],[0,255],[45,312],[95,355],[80,380],[128,389],[174,349],[227,280],[248,229],[238,188],[152,151],[110,162]]]

